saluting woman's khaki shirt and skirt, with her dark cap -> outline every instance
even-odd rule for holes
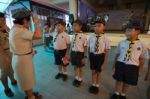
[[[13,18],[28,17],[30,13],[16,13]],[[32,38],[34,33],[22,25],[15,24],[9,33],[10,51],[12,52],[12,66],[16,74],[19,87],[30,90],[35,85],[34,65],[32,61]]]

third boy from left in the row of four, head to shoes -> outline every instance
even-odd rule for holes
[[[108,49],[110,49],[109,40],[104,35],[105,21],[100,19],[96,21],[95,34],[89,38],[89,62],[92,71],[92,86],[89,92],[97,94],[101,81],[101,73],[107,62]]]

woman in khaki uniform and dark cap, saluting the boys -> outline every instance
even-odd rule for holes
[[[9,33],[10,51],[13,54],[12,66],[16,74],[18,85],[26,99],[41,99],[41,95],[33,93],[35,85],[34,65],[32,61],[32,40],[42,38],[39,21],[33,17],[35,32],[29,31],[31,12],[17,11],[13,16],[14,26]]]

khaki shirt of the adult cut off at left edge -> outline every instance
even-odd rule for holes
[[[9,28],[6,26],[5,28],[0,28],[0,43],[4,49],[9,48]]]

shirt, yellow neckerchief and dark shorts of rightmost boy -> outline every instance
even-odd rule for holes
[[[119,57],[115,64],[114,79],[129,85],[137,85],[139,73],[139,58],[148,59],[148,50],[137,39],[136,41],[123,40],[118,45]]]

